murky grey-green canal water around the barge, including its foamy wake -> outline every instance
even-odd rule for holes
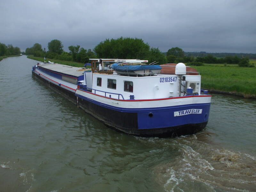
[[[109,129],[0,62],[0,192],[256,191],[256,100],[213,95],[207,127],[175,139]]]

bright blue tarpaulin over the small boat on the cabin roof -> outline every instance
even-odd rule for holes
[[[132,72],[138,70],[145,70],[145,69],[162,69],[159,65],[125,65],[122,63],[123,66],[118,65],[119,63],[112,64],[112,69],[116,71],[124,71],[124,72]]]

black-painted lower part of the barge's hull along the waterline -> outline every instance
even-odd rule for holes
[[[119,132],[142,137],[177,137],[181,135],[195,134],[204,129],[207,122],[198,124],[185,124],[174,127],[164,127],[156,129],[138,129],[137,113],[119,112],[109,108],[96,105],[90,101],[77,98],[74,92],[68,91],[55,85],[32,71],[33,76],[43,81],[54,91],[60,93],[66,99],[78,105],[79,108],[102,121],[108,127]],[[77,102],[78,99],[78,102]]]

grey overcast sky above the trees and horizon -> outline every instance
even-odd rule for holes
[[[256,0],[1,0],[0,42],[22,51],[52,39],[93,49],[137,37],[167,52],[256,53]]]

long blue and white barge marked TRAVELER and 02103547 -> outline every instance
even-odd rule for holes
[[[207,124],[211,95],[183,63],[162,74],[147,60],[90,59],[92,68],[44,63],[32,74],[108,127],[143,137],[177,137]],[[165,66],[165,68],[168,67]],[[196,74],[191,74],[196,73]]]

